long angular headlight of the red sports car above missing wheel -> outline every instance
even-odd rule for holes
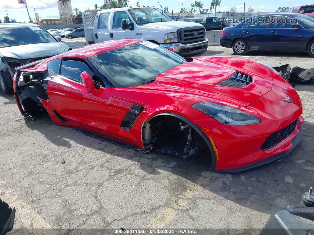
[[[191,106],[214,118],[216,121],[227,125],[249,125],[261,122],[260,119],[252,115],[221,104],[201,102]]]

